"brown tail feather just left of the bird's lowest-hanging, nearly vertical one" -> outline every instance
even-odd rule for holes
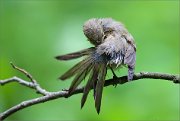
[[[83,108],[85,102],[86,102],[86,99],[87,99],[87,96],[89,94],[89,91],[91,90],[93,84],[95,81],[97,81],[97,78],[98,78],[98,65],[95,64],[93,69],[91,70],[91,74],[89,76],[89,79],[88,79],[88,82],[86,84],[86,86],[84,87],[84,92],[83,92],[83,96],[82,96],[82,99],[81,99],[81,108]]]

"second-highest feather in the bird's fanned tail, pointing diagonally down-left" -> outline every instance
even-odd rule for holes
[[[59,77],[59,79],[66,80],[67,78],[74,76],[75,74],[77,74],[77,72],[79,72],[80,70],[83,70],[83,68],[85,68],[86,65],[89,65],[91,62],[92,62],[92,59],[90,57],[87,57],[86,59],[74,65],[67,72],[65,72],[61,77]]]

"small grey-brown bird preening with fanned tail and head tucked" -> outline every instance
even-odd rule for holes
[[[128,80],[132,80],[136,62],[136,45],[124,25],[111,18],[90,19],[85,22],[83,32],[94,47],[57,56],[58,60],[86,56],[59,79],[66,80],[75,76],[69,88],[69,94],[71,94],[90,73],[81,99],[81,108],[86,102],[89,91],[93,88],[95,107],[99,114],[107,69],[111,69],[115,76],[113,68],[127,65]]]

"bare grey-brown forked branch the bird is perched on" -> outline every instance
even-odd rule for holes
[[[19,67],[16,67],[13,64],[12,64],[12,66],[13,66],[13,68],[15,68],[15,69],[19,70],[20,72],[24,73],[25,75],[27,75],[27,77],[31,79],[31,82],[28,82],[28,81],[23,80],[23,79],[18,78],[18,77],[12,77],[9,79],[0,80],[1,85],[5,85],[5,84],[11,83],[11,82],[18,82],[19,84],[21,84],[23,86],[26,86],[26,87],[29,87],[29,88],[36,90],[36,92],[42,94],[43,96],[31,99],[31,100],[23,101],[23,102],[15,105],[15,106],[9,108],[8,110],[0,113],[0,120],[3,120],[5,118],[7,118],[8,116],[14,114],[15,112],[22,110],[24,108],[30,107],[32,105],[47,102],[47,101],[54,100],[57,98],[62,98],[62,97],[67,98],[67,97],[70,97],[72,95],[79,94],[79,93],[83,92],[84,87],[77,88],[71,95],[69,95],[68,90],[62,90],[62,91],[57,91],[57,92],[48,92],[45,89],[41,88],[36,80],[32,81],[34,79],[32,78],[32,76],[27,71],[25,71],[24,69],[21,69]],[[180,76],[179,75],[152,73],[152,72],[137,73],[134,75],[132,81],[139,80],[139,79],[145,79],[145,78],[168,80],[168,81],[172,81],[176,84],[180,84]],[[122,76],[119,78],[106,80],[105,86],[124,84],[126,82],[132,82],[132,81],[128,81],[127,76]]]

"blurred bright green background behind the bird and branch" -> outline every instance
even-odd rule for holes
[[[179,74],[178,0],[0,0],[0,79],[15,75],[27,79],[12,69],[12,61],[48,91],[68,88],[72,79],[57,78],[79,59],[60,62],[54,57],[92,46],[82,25],[94,17],[112,17],[125,24],[137,44],[136,72]],[[116,73],[125,75],[127,69]],[[107,78],[112,78],[111,73]],[[0,112],[38,96],[17,83],[0,86]],[[100,115],[92,92],[82,110],[81,96],[34,105],[8,120],[180,120],[179,85],[169,81],[143,79],[106,87]]]

